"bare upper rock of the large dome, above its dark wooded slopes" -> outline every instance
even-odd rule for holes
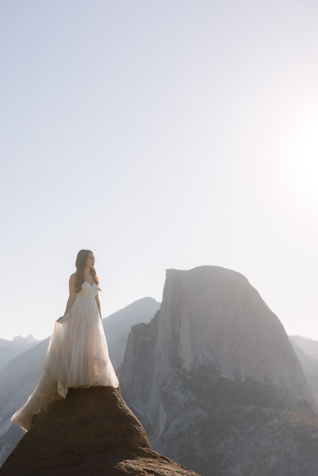
[[[156,348],[162,367],[211,364],[221,377],[274,385],[316,405],[284,327],[236,271],[167,270]]]

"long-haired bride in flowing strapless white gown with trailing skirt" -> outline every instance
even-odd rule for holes
[[[98,298],[99,281],[91,250],[79,251],[76,273],[70,277],[65,314],[53,328],[40,375],[28,401],[11,421],[28,431],[34,415],[55,400],[66,398],[69,387],[118,387],[108,357]]]

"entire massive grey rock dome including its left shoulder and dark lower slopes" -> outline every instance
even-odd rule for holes
[[[152,446],[203,475],[259,475],[280,457],[275,474],[290,464],[302,474],[300,426],[318,443],[317,404],[284,328],[234,271],[168,270],[160,310],[132,328],[121,375]]]

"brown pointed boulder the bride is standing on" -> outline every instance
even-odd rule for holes
[[[69,389],[51,404],[0,468],[1,476],[195,473],[151,450],[119,389]]]

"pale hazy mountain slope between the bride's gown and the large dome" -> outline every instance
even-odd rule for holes
[[[117,373],[123,362],[131,327],[140,322],[148,323],[159,307],[160,303],[152,297],[144,297],[102,320],[109,357]]]

